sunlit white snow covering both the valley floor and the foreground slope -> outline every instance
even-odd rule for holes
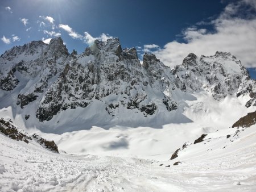
[[[239,110],[246,97],[230,96],[221,102],[200,93],[195,97],[184,109],[191,123],[158,129],[93,126],[61,135],[26,130],[55,140],[59,151],[67,153],[52,153],[0,134],[0,191],[255,191],[256,126],[240,130],[239,136],[237,128],[230,128],[255,108]],[[13,119],[10,108],[0,112]],[[18,119],[22,126],[22,118],[16,116],[15,122]],[[206,141],[168,160],[202,133],[208,133]],[[174,166],[176,161],[181,164]]]

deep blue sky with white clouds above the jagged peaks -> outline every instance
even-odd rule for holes
[[[119,37],[139,56],[155,53],[164,64],[181,64],[188,53],[231,52],[256,67],[256,2],[1,0],[0,53],[32,40],[61,36],[69,52],[93,40]]]

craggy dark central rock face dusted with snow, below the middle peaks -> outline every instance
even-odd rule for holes
[[[160,79],[160,74],[153,74],[154,78],[148,79],[158,69],[160,61],[154,55],[145,56],[153,68],[148,72],[144,70],[138,60],[135,48],[120,49],[118,39],[106,42],[95,41],[94,45],[86,48],[80,56],[73,54],[73,59],[60,73],[59,78],[46,91],[45,97],[39,103],[36,117],[40,121],[50,120],[61,110],[67,108],[86,107],[93,99],[105,101],[105,110],[110,116],[118,113],[119,105],[129,110],[138,109],[146,117],[154,115],[158,106],[150,101],[144,89],[150,82],[150,89],[156,86],[155,79]],[[115,56],[109,57],[109,53]],[[81,62],[86,60],[87,63]],[[166,66],[161,67],[166,68]],[[167,86],[167,85],[162,85]],[[109,102],[109,95],[123,95],[121,101]],[[164,96],[164,95],[163,95]],[[175,110],[175,102],[166,98],[168,110]]]

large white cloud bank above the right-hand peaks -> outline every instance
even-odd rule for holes
[[[235,16],[244,9],[244,5],[256,10],[254,0],[230,3],[217,19],[210,20],[214,32],[202,28],[204,23],[200,23],[201,28],[189,27],[183,31],[186,43],[172,41],[155,51],[155,55],[164,64],[174,66],[181,64],[184,57],[191,52],[200,56],[225,51],[237,56],[247,68],[256,67],[256,16]]]

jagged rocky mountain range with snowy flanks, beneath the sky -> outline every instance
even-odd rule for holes
[[[217,101],[250,94],[246,107],[256,105],[255,81],[230,53],[190,53],[170,69],[150,53],[141,65],[136,49],[122,49],[118,38],[96,40],[81,55],[69,54],[60,37],[32,41],[0,57],[0,74],[0,108],[16,108],[27,126],[73,127],[74,118],[86,128],[184,123],[176,116],[199,92]]]

